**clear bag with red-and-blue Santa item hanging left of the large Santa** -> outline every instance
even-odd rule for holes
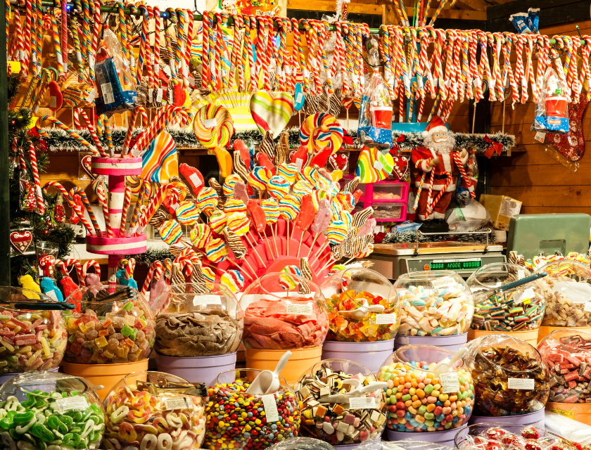
[[[372,72],[361,98],[357,134],[363,136],[365,146],[389,150],[392,146],[392,103],[388,85],[379,72],[378,41],[374,37],[367,41],[367,60]]]

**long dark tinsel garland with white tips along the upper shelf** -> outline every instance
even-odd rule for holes
[[[51,151],[81,151],[87,150],[86,147],[82,146],[78,141],[72,139],[72,137],[63,131],[62,129],[58,128],[46,128],[44,131],[49,134],[49,138],[46,138],[45,141]],[[203,148],[195,138],[193,131],[179,129],[179,128],[170,128],[166,130],[174,139],[174,142],[177,144],[177,148]],[[292,127],[286,129],[289,136],[289,144],[292,147],[298,147],[300,145],[300,129],[298,127]],[[76,130],[77,133],[80,134],[84,139],[89,142],[91,141],[90,134],[87,129],[83,130]],[[137,129],[134,131],[133,136],[137,136],[141,132],[141,129]],[[113,145],[115,149],[120,150],[123,140],[125,139],[125,134],[127,133],[127,129],[122,127],[117,127],[111,131],[111,136],[113,139]],[[455,133],[456,139],[456,148],[472,148],[476,150],[476,153],[484,153],[488,150],[488,147],[491,145],[490,143],[485,141],[485,134],[467,134],[467,133]],[[347,132],[347,136],[350,136],[353,141],[354,145],[352,148],[360,148],[361,146],[355,145],[355,141],[357,140],[357,130],[352,129]],[[392,133],[393,141],[398,139],[400,136],[400,132],[393,131]],[[398,146],[403,152],[409,153],[410,151],[414,150],[419,146],[423,145],[423,136],[421,133],[406,133],[404,134],[405,140],[398,143]],[[490,140],[493,143],[500,143],[502,145],[502,152],[507,153],[510,148],[515,146],[515,136],[511,136],[510,134],[503,134],[501,132],[497,132],[495,134],[488,135]],[[104,137],[99,138],[103,143],[103,146],[106,147],[107,141]],[[236,131],[234,136],[232,136],[232,141],[236,139],[241,139],[241,141],[248,143],[248,141],[252,141],[253,143],[259,143],[262,139],[262,134],[258,129],[256,130],[249,130],[249,131]],[[277,140],[279,137],[277,138]]]

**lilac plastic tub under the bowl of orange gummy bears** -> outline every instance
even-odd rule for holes
[[[369,368],[373,373],[380,371],[383,361],[394,349],[394,340],[376,342],[324,341],[322,359],[347,359]]]

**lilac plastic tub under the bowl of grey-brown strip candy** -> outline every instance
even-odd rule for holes
[[[215,356],[163,356],[156,354],[158,371],[172,373],[189,383],[209,383],[236,368],[236,352]]]

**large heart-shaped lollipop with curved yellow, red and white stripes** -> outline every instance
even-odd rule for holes
[[[295,101],[287,92],[258,91],[250,97],[250,115],[262,134],[279,136],[293,115]]]

